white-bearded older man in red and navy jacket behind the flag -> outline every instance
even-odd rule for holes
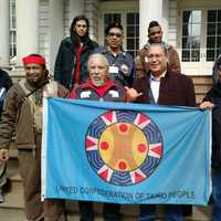
[[[108,77],[108,61],[103,54],[92,54],[87,62],[90,78],[71,93],[71,98],[125,102],[129,96],[138,94],[133,88],[124,88]],[[80,201],[81,221],[93,221],[93,204],[90,201]],[[104,203],[103,215],[105,221],[120,220],[120,206]]]

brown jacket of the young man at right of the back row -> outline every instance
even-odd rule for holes
[[[173,71],[181,73],[180,60],[177,51],[173,46],[164,43],[168,53],[168,71]],[[147,52],[148,52],[149,43],[147,43],[139,52],[136,57],[136,75],[137,77],[144,76],[149,71]]]

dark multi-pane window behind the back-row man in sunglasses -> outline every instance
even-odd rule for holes
[[[103,32],[105,42],[105,28],[112,22],[119,22],[124,27],[124,49],[136,57],[139,50],[139,13],[138,12],[122,12],[122,13],[104,13],[103,15]]]

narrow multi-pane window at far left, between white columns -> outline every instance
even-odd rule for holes
[[[15,11],[15,7],[17,7],[17,0],[10,0],[9,2],[10,6],[10,23],[9,23],[9,28],[10,28],[10,57],[14,57],[17,55],[17,11]]]

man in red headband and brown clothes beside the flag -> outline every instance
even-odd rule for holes
[[[8,92],[0,122],[0,161],[9,159],[13,134],[19,154],[19,172],[24,189],[24,211],[29,221],[64,221],[63,201],[41,202],[42,99],[67,97],[69,91],[49,77],[45,59],[23,57],[25,78]]]

